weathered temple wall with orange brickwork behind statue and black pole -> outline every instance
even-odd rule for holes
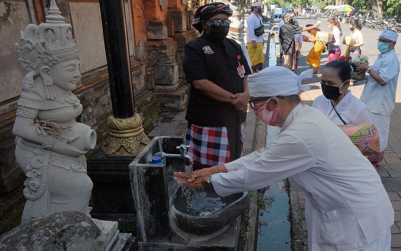
[[[106,122],[112,115],[112,107],[99,2],[56,2],[65,22],[73,27],[80,52],[81,84],[73,91],[83,105],[80,122],[95,129],[102,139],[108,134]],[[26,74],[17,63],[15,43],[28,24],[44,22],[49,3],[45,0],[0,1],[0,202],[4,194],[21,186],[25,180],[15,162],[12,133],[21,83]],[[196,37],[190,27],[193,14],[185,11],[184,0],[163,3],[165,5],[159,5],[159,1],[124,1],[135,108],[143,119],[152,111],[142,108],[141,104],[157,107],[149,102],[163,102],[168,109],[183,110],[189,93],[188,85],[182,80],[180,61],[184,44]],[[163,20],[151,16],[154,9],[163,14],[157,16]],[[158,29],[163,33],[156,34]]]

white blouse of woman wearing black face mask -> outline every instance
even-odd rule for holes
[[[312,106],[323,112],[333,123],[344,124],[334,111],[331,100],[327,99],[324,95],[316,97]],[[369,108],[357,97],[352,95],[351,90],[348,90],[348,93],[338,102],[335,109],[347,124],[357,123],[363,120],[372,122]]]

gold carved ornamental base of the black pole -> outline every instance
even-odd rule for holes
[[[139,115],[130,118],[110,116],[108,123],[110,137],[103,144],[103,152],[109,157],[134,157],[150,142]]]

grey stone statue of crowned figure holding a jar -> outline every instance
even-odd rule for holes
[[[28,25],[17,44],[18,62],[28,71],[13,128],[16,160],[27,176],[23,222],[60,211],[90,217],[93,184],[84,154],[95,147],[96,132],[76,121],[82,105],[71,91],[80,84],[79,54],[60,14],[52,0],[46,23]],[[106,228],[118,236],[117,222]]]

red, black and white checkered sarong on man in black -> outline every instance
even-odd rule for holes
[[[245,127],[241,124],[241,141],[244,142]],[[186,145],[193,161],[216,166],[231,161],[226,127],[200,127],[187,123]]]

